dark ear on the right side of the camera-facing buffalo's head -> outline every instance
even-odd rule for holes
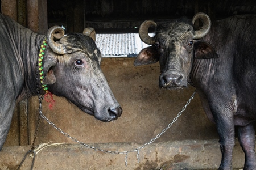
[[[197,41],[194,45],[194,55],[197,59],[218,58],[212,45],[205,41]]]

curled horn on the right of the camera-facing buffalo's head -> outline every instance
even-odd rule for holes
[[[210,22],[210,17],[207,14],[202,12],[197,13],[195,16],[193,16],[192,23],[194,24],[197,19],[201,19],[203,22],[203,27],[195,31],[193,39],[200,39],[201,37],[207,35],[207,33],[210,31],[210,26],[212,25],[212,22]]]

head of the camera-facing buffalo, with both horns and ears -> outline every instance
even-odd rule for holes
[[[152,20],[144,21],[139,28],[139,36],[146,44],[152,46],[139,52],[134,65],[146,65],[159,61],[161,75],[159,86],[162,88],[187,87],[193,58],[217,58],[213,47],[201,37],[207,35],[211,22],[208,15],[197,13],[193,19],[203,22],[201,29],[195,31],[192,24],[182,20],[156,25]],[[156,27],[154,37],[148,35],[148,28]]]

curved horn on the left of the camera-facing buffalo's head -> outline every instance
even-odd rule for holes
[[[145,20],[141,26],[139,26],[139,37],[148,45],[155,43],[155,37],[148,35],[148,28],[150,27],[156,27],[156,23],[152,20]]]

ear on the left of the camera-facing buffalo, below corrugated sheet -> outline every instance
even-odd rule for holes
[[[139,52],[134,61],[134,66],[149,65],[159,61],[158,54],[155,50],[155,46],[149,46]]]

